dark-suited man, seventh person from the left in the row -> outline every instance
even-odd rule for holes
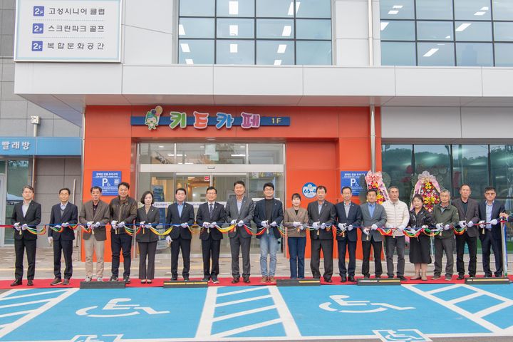
[[[203,227],[199,233],[199,239],[202,240],[203,256],[203,281],[212,279],[212,283],[217,284],[219,280],[219,251],[221,250],[222,232],[217,230],[216,226],[221,226],[226,221],[226,212],[222,204],[215,202],[217,198],[217,189],[207,187],[207,202],[199,205],[196,214],[196,223]],[[212,269],[210,269],[210,259],[212,259]]]

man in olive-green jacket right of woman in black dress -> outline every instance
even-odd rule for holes
[[[450,204],[449,190],[442,190],[440,192],[440,203],[436,204],[433,208],[432,217],[437,222],[436,227],[442,229],[442,232],[435,236],[435,272],[432,279],[440,279],[440,274],[442,274],[442,257],[445,252],[445,257],[447,258],[445,280],[450,281],[454,271],[452,240],[454,240],[455,234],[452,227],[455,227],[460,222],[460,215],[458,215],[456,207]]]

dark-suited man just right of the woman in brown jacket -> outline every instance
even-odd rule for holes
[[[331,283],[333,275],[333,229],[336,211],[333,203],[326,201],[328,190],[324,185],[317,187],[316,202],[309,203],[306,210],[309,215],[309,224],[314,227],[310,232],[311,259],[310,268],[314,279],[321,279],[321,250],[324,254],[324,281]]]

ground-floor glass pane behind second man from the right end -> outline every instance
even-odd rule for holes
[[[476,196],[484,194],[488,186],[488,145],[452,145],[453,195],[460,193],[460,185],[472,187]]]

